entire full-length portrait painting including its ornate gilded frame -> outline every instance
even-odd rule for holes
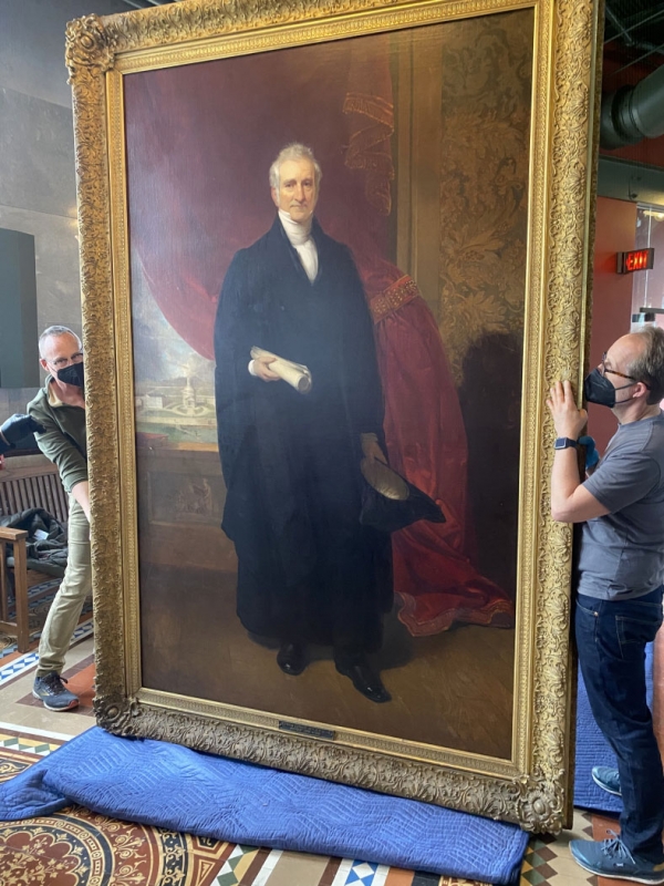
[[[596,45],[595,0],[71,22],[100,725],[569,823]]]

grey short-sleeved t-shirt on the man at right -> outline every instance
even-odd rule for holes
[[[611,513],[584,523],[579,593],[642,597],[664,580],[664,414],[622,424],[583,484]]]

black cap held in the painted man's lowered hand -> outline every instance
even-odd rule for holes
[[[363,526],[395,533],[418,519],[445,523],[445,514],[434,499],[388,465],[363,459],[360,470],[365,480],[360,513]]]

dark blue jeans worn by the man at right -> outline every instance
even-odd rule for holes
[[[664,774],[645,702],[645,645],[662,624],[664,586],[632,600],[577,597],[579,663],[596,724],[618,758],[621,837],[655,864],[664,861]]]

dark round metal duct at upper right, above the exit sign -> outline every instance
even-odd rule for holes
[[[664,65],[635,86],[604,93],[600,146],[608,151],[664,135]]]

